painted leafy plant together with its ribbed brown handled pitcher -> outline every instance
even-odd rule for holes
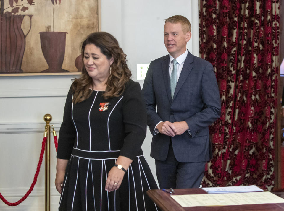
[[[51,0],[51,2],[54,4],[54,0]],[[7,1],[0,0],[0,73],[22,73],[21,66],[25,52],[25,38],[30,32],[33,15],[18,13],[25,13],[29,6],[35,4],[33,0],[9,0],[9,6],[5,8],[5,3]],[[57,0],[55,3],[57,3]],[[59,1],[60,3],[61,1]],[[26,33],[22,30],[22,22],[25,16],[30,18],[29,30]]]

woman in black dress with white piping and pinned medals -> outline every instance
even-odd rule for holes
[[[82,43],[82,76],[67,95],[55,185],[59,210],[157,210],[157,189],[141,145],[146,108],[126,55],[106,32]]]

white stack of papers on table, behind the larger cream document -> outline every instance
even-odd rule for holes
[[[243,193],[243,192],[258,192],[263,191],[261,188],[255,185],[249,186],[230,186],[230,187],[216,187],[216,188],[202,188],[209,194],[215,193]]]

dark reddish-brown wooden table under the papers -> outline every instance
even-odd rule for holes
[[[176,202],[169,193],[162,190],[148,190],[148,196],[156,205],[163,211],[188,211],[188,210],[284,210],[284,203],[279,204],[245,204],[245,205],[233,205],[233,206],[200,206],[200,207],[182,207]],[[172,195],[184,195],[184,194],[206,194],[206,192],[200,188],[195,189],[175,189],[175,193]]]

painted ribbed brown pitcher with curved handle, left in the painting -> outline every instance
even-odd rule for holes
[[[22,73],[22,61],[25,51],[25,35],[22,21],[25,16],[33,15],[0,15],[0,73]]]

